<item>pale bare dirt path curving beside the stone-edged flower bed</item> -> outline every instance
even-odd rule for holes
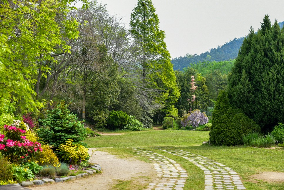
[[[91,150],[89,150],[91,155]],[[153,164],[145,163],[134,159],[122,159],[107,152],[95,151],[92,163],[98,163],[103,169],[103,173],[88,176],[83,179],[75,179],[64,183],[46,184],[42,186],[29,187],[34,190],[64,190],[64,189],[112,189],[118,180],[137,180],[137,183],[148,184],[156,176]],[[139,178],[143,176],[142,178]],[[142,180],[141,180],[142,179]],[[151,181],[150,181],[151,183]]]

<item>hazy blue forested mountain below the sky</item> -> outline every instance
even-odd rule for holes
[[[280,28],[283,27],[284,22],[278,23]],[[238,55],[240,46],[243,43],[244,37],[235,38],[230,42],[225,43],[223,46],[218,46],[216,48],[211,48],[209,51],[204,52],[200,55],[186,54],[183,57],[176,57],[171,60],[174,70],[183,70],[183,68],[190,66],[190,64],[195,64],[202,61],[228,61],[230,59],[235,59]]]

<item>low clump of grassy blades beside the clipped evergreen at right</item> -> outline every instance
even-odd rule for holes
[[[271,147],[275,144],[275,140],[269,133],[264,136],[259,133],[249,133],[243,136],[243,143],[252,147]]]

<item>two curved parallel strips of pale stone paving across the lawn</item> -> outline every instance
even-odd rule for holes
[[[203,170],[205,174],[205,190],[245,189],[238,174],[233,169],[221,163],[218,163],[204,156],[199,156],[176,148],[157,147],[157,149],[176,156],[181,156],[182,158],[192,162],[201,170]],[[161,176],[160,183],[150,184],[150,189],[183,189],[186,178],[182,177],[186,177],[187,174],[186,171],[184,171],[184,169],[179,164],[176,164],[175,161],[166,156],[154,153],[152,151],[148,151],[146,149],[137,148],[136,151],[138,154],[141,154],[152,160],[154,162],[154,166],[158,175]],[[165,177],[169,177],[171,179],[165,181]]]

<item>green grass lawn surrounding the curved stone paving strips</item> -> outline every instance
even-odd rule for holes
[[[250,189],[284,189],[284,183],[268,183],[253,179],[250,176],[262,171],[284,172],[284,150],[253,148],[244,146],[201,146],[208,141],[208,131],[182,131],[182,130],[148,130],[133,131],[118,136],[99,136],[87,138],[85,142],[89,148],[100,148],[111,154],[123,158],[141,159],[149,162],[147,158],[137,155],[132,147],[154,146],[177,147],[182,150],[206,156],[235,170],[242,178],[244,186]],[[115,147],[115,148],[111,148]],[[159,152],[155,149],[155,152]],[[204,173],[194,164],[185,159],[160,151],[163,155],[174,159],[188,171],[188,180],[184,189],[204,189]],[[130,185],[131,186],[131,185]],[[128,189],[124,186],[124,189]],[[130,188],[131,189],[131,188]]]

